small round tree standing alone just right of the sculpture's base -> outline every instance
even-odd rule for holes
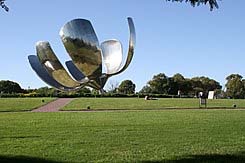
[[[118,92],[123,94],[134,94],[135,84],[131,80],[124,80],[119,85]]]

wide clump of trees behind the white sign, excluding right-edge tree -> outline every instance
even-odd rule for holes
[[[209,91],[220,92],[221,88],[222,86],[219,82],[204,76],[189,79],[180,73],[172,77],[159,73],[147,82],[147,85],[140,90],[140,93],[188,95],[194,97],[198,96],[199,92],[203,92],[205,95]]]

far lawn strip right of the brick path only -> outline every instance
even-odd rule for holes
[[[245,100],[216,99],[208,100],[209,108],[245,108]],[[78,98],[62,108],[62,110],[84,110],[90,106],[92,110],[143,110],[163,108],[198,108],[199,99],[160,98],[158,100],[144,100],[143,98]]]

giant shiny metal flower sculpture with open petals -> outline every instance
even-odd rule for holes
[[[72,59],[65,63],[70,74],[46,41],[36,43],[37,56],[28,56],[31,67],[44,82],[59,90],[71,91],[89,86],[103,92],[108,78],[123,72],[133,58],[136,34],[132,18],[128,18],[128,25],[129,48],[123,66],[122,45],[118,40],[112,39],[99,44],[90,21],[74,19],[60,30],[62,42]],[[106,73],[102,73],[102,58]]]

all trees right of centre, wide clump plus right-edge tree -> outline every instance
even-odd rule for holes
[[[226,77],[225,88],[222,90],[220,83],[209,77],[201,76],[189,79],[180,73],[172,77],[168,77],[164,73],[159,73],[154,75],[139,93],[198,97],[199,92],[203,92],[207,96],[209,91],[214,91],[219,98],[244,99],[245,79],[240,74],[231,74]]]

